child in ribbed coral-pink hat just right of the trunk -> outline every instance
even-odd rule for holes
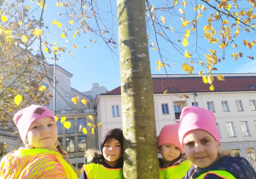
[[[157,137],[157,146],[162,156],[159,159],[160,179],[181,179],[191,167],[178,141],[177,130],[178,124],[165,125]]]

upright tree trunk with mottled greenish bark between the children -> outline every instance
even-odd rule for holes
[[[159,178],[144,0],[118,0],[126,179]]]

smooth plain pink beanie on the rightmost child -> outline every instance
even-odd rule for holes
[[[184,136],[191,130],[206,130],[220,145],[216,118],[212,111],[202,107],[184,107],[179,119],[178,138],[183,146]]]

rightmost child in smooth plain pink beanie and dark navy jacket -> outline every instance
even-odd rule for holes
[[[186,156],[195,165],[183,179],[255,179],[252,165],[241,157],[220,151],[220,135],[212,111],[184,107],[180,116],[178,138]]]

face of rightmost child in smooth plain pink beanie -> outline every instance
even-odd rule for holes
[[[218,158],[218,142],[205,130],[191,130],[183,139],[183,149],[190,162],[200,168]]]

